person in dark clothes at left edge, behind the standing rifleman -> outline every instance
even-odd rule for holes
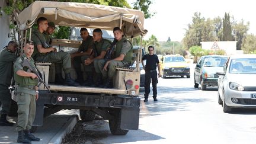
[[[17,56],[15,51],[18,44],[15,41],[9,41],[8,46],[0,52],[0,101],[2,110],[0,111],[0,126],[12,126],[13,123],[7,121],[7,114],[11,107],[11,94],[8,87],[11,85],[13,76],[13,63]],[[0,105],[1,105],[0,103]]]

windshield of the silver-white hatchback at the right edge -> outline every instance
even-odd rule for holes
[[[229,73],[256,74],[256,58],[232,59]]]

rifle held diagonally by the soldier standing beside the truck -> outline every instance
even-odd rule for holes
[[[37,69],[36,65],[35,67],[31,65],[30,62],[28,62],[27,57],[24,58],[23,63],[21,64],[23,67],[27,67],[29,72],[33,72],[36,74],[37,78],[39,78],[39,82],[40,84],[43,83],[44,87],[47,88],[47,90],[50,92],[50,89],[47,87],[47,85],[44,83],[43,79],[42,79],[42,74],[39,71],[39,69]],[[40,85],[39,84],[39,85]]]

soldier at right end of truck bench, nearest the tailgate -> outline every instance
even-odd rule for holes
[[[132,43],[123,37],[123,31],[121,31],[119,27],[115,27],[113,33],[114,38],[117,40],[113,59],[108,60],[107,62],[103,59],[99,62],[99,68],[103,75],[103,79],[107,79],[104,88],[113,88],[113,78],[116,74],[116,66],[129,65],[133,62]]]

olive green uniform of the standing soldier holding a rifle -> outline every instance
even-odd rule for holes
[[[18,124],[16,130],[19,132],[21,130],[29,130],[34,121],[36,115],[36,85],[38,84],[38,79],[32,79],[31,77],[19,76],[17,71],[23,70],[27,71],[28,68],[23,68],[22,63],[26,56],[18,57],[14,63],[14,79],[15,85],[18,87],[15,88],[15,93],[17,95],[17,104],[18,104]],[[28,59],[30,64],[34,67],[34,60],[31,57]]]

